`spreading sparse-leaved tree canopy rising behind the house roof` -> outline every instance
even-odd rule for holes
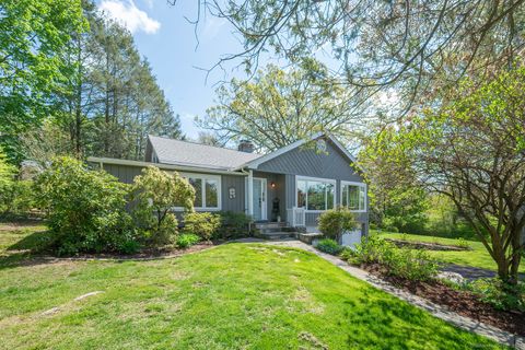
[[[329,78],[328,69],[307,59],[296,69],[269,65],[253,80],[233,79],[218,89],[217,106],[198,125],[225,143],[249,139],[273,151],[318,131],[350,138],[360,128],[364,105]]]

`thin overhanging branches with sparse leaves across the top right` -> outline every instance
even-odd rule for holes
[[[176,0],[171,0],[175,3]],[[292,62],[327,55],[343,84],[369,98],[396,90],[399,110],[454,88],[465,72],[509,66],[524,45],[525,1],[199,0],[241,35],[248,69],[272,50]]]

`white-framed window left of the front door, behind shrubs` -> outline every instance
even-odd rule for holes
[[[180,174],[195,188],[196,210],[221,210],[221,176]]]

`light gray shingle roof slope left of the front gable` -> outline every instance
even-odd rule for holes
[[[179,141],[150,136],[150,142],[159,163],[197,166],[217,170],[232,170],[261,154],[246,153],[208,144]]]

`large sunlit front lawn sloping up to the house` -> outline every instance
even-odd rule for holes
[[[228,244],[164,260],[13,262],[5,248],[24,235],[0,235],[3,349],[500,348],[307,252]]]

